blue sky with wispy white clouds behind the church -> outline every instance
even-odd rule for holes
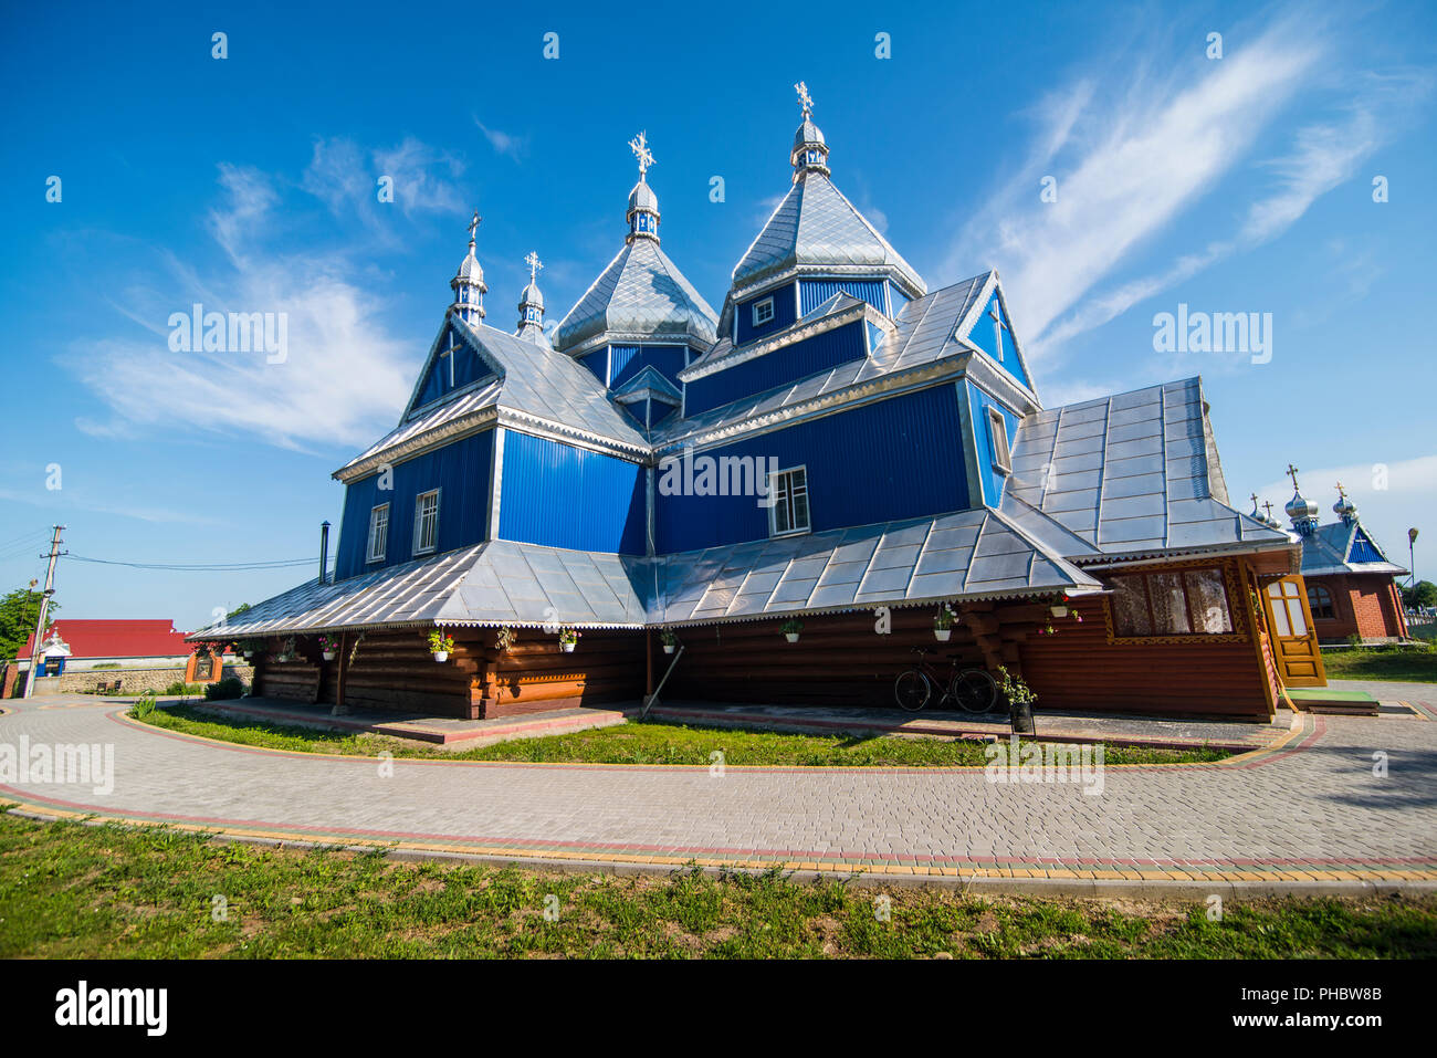
[[[1201,374],[1236,503],[1280,507],[1292,460],[1326,515],[1341,477],[1394,558],[1424,528],[1437,579],[1433,6],[598,9],[11,6],[0,588],[43,575],[56,520],[89,558],[316,555],[470,210],[489,322],[513,325],[529,250],[556,321],[622,243],[639,129],[664,249],[720,305],[787,188],[799,79],[835,183],[930,289],[999,269],[1046,405]],[[194,302],[286,312],[286,362],[171,352]],[[1155,352],[1178,303],[1272,313],[1270,362]],[[57,598],[190,628],[309,575],[65,559]]]

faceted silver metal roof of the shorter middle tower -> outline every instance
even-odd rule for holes
[[[609,262],[593,286],[559,323],[555,345],[576,352],[581,345],[615,341],[671,339],[713,345],[718,318],[652,239],[635,239]]]

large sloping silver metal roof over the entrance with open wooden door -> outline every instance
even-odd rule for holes
[[[1292,545],[1227,506],[1198,378],[1029,415],[1007,492],[1108,558]]]

